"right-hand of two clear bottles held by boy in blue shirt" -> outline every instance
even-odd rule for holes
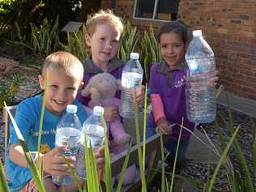
[[[100,106],[95,106],[92,115],[83,123],[81,144],[79,146],[79,155],[76,159],[75,172],[81,177],[86,177],[85,162],[84,162],[84,134],[87,136],[87,147],[92,147],[93,150],[101,147],[104,143],[104,126],[101,122],[101,116],[104,109]]]

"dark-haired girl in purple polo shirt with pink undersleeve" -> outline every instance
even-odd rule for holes
[[[183,126],[194,131],[194,123],[186,117],[185,83],[188,67],[184,57],[187,27],[181,21],[164,23],[157,38],[164,61],[151,66],[149,90],[152,112],[147,119],[147,137],[156,132],[169,135],[164,147],[169,151],[167,162],[173,163],[183,117]],[[217,80],[217,77],[211,79],[212,86]],[[184,160],[189,140],[190,132],[182,129],[178,164]]]

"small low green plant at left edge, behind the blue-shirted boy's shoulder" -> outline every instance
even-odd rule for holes
[[[14,103],[14,95],[19,88],[19,75],[15,75],[10,85],[0,87],[0,109],[4,107],[4,102],[7,105]]]

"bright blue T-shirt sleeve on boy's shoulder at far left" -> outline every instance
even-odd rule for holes
[[[15,113],[15,122],[19,127],[19,131],[23,135],[25,141],[29,137],[29,133],[34,125],[34,113],[28,102],[22,102],[18,105],[17,111]],[[15,128],[11,123],[10,126],[10,143],[19,143],[19,139],[15,132]]]

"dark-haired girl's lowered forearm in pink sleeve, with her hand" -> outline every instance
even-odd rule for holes
[[[152,113],[155,117],[156,131],[162,134],[171,134],[172,129],[164,115],[164,105],[159,94],[151,94]]]

